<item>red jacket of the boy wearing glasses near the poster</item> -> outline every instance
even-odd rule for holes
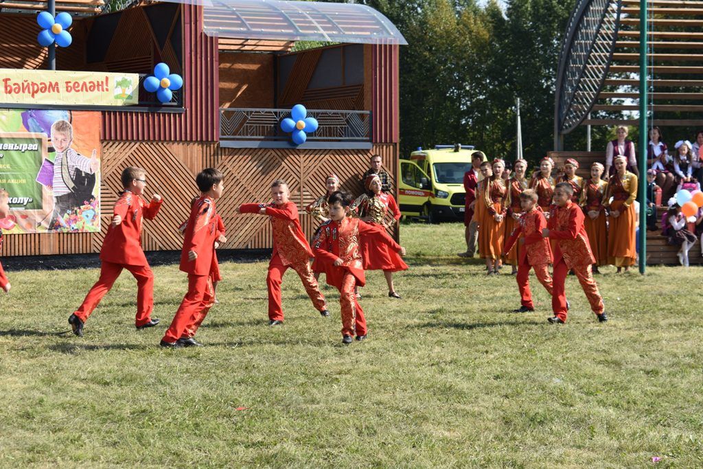
[[[147,203],[141,195],[131,191],[121,193],[112,212],[120,215],[122,222],[117,226],[108,226],[100,259],[115,264],[148,265],[141,248],[141,222],[143,218],[154,219],[162,203],[163,200]]]

